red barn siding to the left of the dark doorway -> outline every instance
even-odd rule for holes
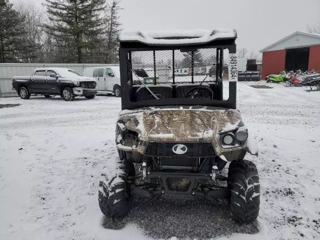
[[[285,50],[264,51],[262,53],[262,79],[269,74],[278,74],[285,67]]]

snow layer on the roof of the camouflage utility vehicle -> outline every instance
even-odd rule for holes
[[[235,39],[236,37],[234,29],[121,31],[119,34],[120,42],[138,41],[147,45],[204,44],[218,39]]]

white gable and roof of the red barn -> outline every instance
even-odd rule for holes
[[[303,32],[303,31],[295,31],[290,35],[287,35],[280,40],[273,42],[272,44],[262,48],[259,50],[263,51],[273,51],[280,50],[292,47],[303,47],[310,45],[320,44],[320,34]]]

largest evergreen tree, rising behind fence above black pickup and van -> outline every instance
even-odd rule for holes
[[[54,38],[55,61],[88,61],[100,43],[104,0],[45,0],[51,24],[45,24]]]

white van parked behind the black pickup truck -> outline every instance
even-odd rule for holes
[[[95,89],[98,94],[113,92],[115,96],[121,96],[119,64],[86,67],[82,75],[93,77],[96,80]]]

